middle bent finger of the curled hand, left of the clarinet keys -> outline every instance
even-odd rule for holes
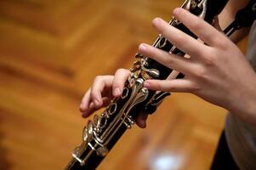
[[[92,86],[90,98],[94,102],[95,108],[100,108],[103,104],[102,101],[102,92],[105,88],[112,87],[114,77],[113,76],[100,76],[96,77]]]

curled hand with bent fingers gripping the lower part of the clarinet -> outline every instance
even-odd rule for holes
[[[124,88],[124,83],[131,74],[130,71],[125,69],[118,69],[115,76],[98,76],[95,77],[93,85],[84,94],[82,103],[80,105],[80,111],[82,117],[88,117],[94,113],[94,111],[100,110],[111,103],[111,99],[114,97],[120,97]],[[141,112],[136,119],[136,124],[145,128],[146,119],[148,114]]]

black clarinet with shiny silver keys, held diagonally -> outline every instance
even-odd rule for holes
[[[227,1],[186,0],[181,8],[185,8],[191,14],[212,23],[214,16],[223,10]],[[174,17],[170,20],[169,25],[197,38]],[[152,46],[172,54],[178,54],[180,57],[185,55],[162,35],[157,37]],[[112,99],[111,104],[100,116],[95,115],[92,121],[88,121],[82,132],[82,144],[72,151],[72,159],[65,167],[66,170],[96,169],[114,144],[117,143],[117,140],[122,137],[122,134],[134,125],[134,120],[139,112],[155,112],[162,100],[170,95],[166,92],[156,92],[144,88],[145,80],[165,80],[170,74],[174,78],[184,77],[182,73],[161,65],[143,54],[136,54],[135,57],[137,60],[130,69],[131,75],[125,82],[122,96]]]

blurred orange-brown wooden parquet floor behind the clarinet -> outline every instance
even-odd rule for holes
[[[63,169],[82,141],[78,108],[94,77],[129,68],[139,42],[156,38],[151,20],[181,3],[1,0],[0,169]],[[173,94],[99,169],[208,169],[224,120],[225,110]]]

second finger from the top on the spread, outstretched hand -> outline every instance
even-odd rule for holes
[[[179,48],[185,54],[190,54],[195,57],[200,56],[199,53],[205,50],[206,45],[198,42],[195,38],[185,34],[185,32],[178,30],[174,26],[170,26],[166,21],[156,18],[153,20],[153,26],[156,30],[166,37],[169,42],[172,42],[175,47]]]

